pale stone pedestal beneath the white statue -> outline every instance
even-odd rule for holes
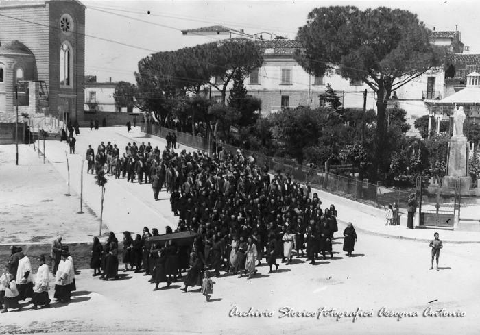
[[[455,189],[457,180],[461,183],[462,191],[470,190],[472,177],[468,173],[468,142],[466,136],[454,136],[448,140],[446,176],[442,179],[442,189]]]

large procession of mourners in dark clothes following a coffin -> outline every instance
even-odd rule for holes
[[[338,231],[335,206],[322,209],[308,182],[300,184],[288,173],[272,177],[267,166],[258,166],[252,156],[243,157],[240,149],[235,155],[225,150],[212,156],[201,151],[176,153],[170,140],[163,151],[150,143],[139,147],[128,143],[121,157],[117,145],[101,142],[96,154],[90,145],[86,155],[88,171],[104,170],[128,182],[151,183],[155,200],[165,187],[171,194],[171,210],[179,218],[175,232],[197,234],[192,245],[170,240],[147,247],[145,240],[158,236],[158,229],[150,232],[145,227],[142,235],[134,237],[123,233],[123,271],[129,266],[136,273],[145,269],[149,282],[156,284],[154,290],[187,273],[182,288],[186,292],[189,286],[202,285],[202,277],[206,282],[206,269],[215,277],[225,271],[251,278],[262,260],[273,273],[280,266],[278,259],[289,265],[294,256],[306,258],[309,264],[319,256],[326,259],[327,253],[333,258],[332,241]],[[171,232],[167,227],[166,233]],[[343,249],[351,256],[357,240],[352,223],[343,237]],[[113,233],[105,245],[94,238],[93,275],[118,278],[118,246]]]

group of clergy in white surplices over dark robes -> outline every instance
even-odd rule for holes
[[[53,276],[55,277],[54,299],[58,302],[71,301],[71,292],[75,291],[75,269],[73,258],[68,246],[62,246],[62,237],[59,236],[52,243],[51,260]],[[59,255],[59,257],[58,257]],[[21,247],[10,247],[10,260],[5,264],[0,276],[0,309],[1,313],[9,309],[21,310],[29,306],[30,310],[49,308],[50,271],[46,264],[45,255],[38,257],[40,266],[33,275],[32,264]],[[29,299],[29,301],[27,301]],[[19,301],[25,301],[23,306]]]

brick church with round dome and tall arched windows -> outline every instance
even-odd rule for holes
[[[0,116],[15,113],[14,91],[32,112],[84,119],[85,6],[79,1],[0,0]],[[25,87],[29,92],[25,92]],[[40,90],[32,95],[32,90]],[[19,97],[20,101],[20,97]],[[28,102],[27,102],[28,103]]]

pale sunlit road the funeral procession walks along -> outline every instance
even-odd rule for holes
[[[121,143],[122,134],[115,128],[100,129],[98,134],[82,136],[78,147],[82,155],[86,145],[95,147],[99,138]],[[102,134],[103,133],[103,134]],[[139,140],[141,140],[139,138]],[[153,140],[151,140],[153,144]],[[64,144],[49,142],[47,157],[62,173],[65,169]],[[51,156],[49,156],[49,150]],[[60,153],[57,153],[60,151]],[[79,164],[80,156],[69,156]],[[66,171],[65,171],[66,173]],[[76,173],[76,175],[75,175]],[[75,179],[78,173],[72,173]],[[91,179],[89,179],[91,178]],[[89,206],[99,212],[99,188],[93,176],[86,176],[85,195]],[[78,182],[72,182],[76,190]],[[128,184],[110,179],[107,184],[105,218],[115,232],[141,227],[162,227],[173,221],[167,201],[155,203],[149,186]],[[66,192],[66,190],[65,190]],[[167,198],[166,194],[161,195]],[[141,199],[141,200],[139,200]],[[344,225],[339,225],[343,231]],[[338,233],[337,233],[338,234]],[[339,237],[339,236],[338,236]],[[198,288],[182,293],[180,283],[169,289],[153,292],[147,277],[132,272],[123,273],[117,282],[103,282],[91,276],[91,270],[80,270],[78,291],[69,305],[56,304],[50,310],[9,312],[1,314],[4,332],[128,332],[244,334],[477,334],[479,248],[475,244],[444,244],[440,271],[429,270],[430,248],[426,243],[359,234],[354,257],[341,251],[341,238],[334,244],[334,259],[317,262],[315,266],[295,259],[293,264],[280,264],[276,273],[268,274],[267,266],[259,268],[252,280],[221,277],[215,279],[213,299],[205,303]],[[431,302],[433,301],[433,302]],[[273,312],[272,317],[230,317],[238,310]],[[372,317],[282,317],[280,308],[289,306],[296,311],[326,310],[355,312],[357,308],[372,312]],[[423,317],[428,307],[445,308],[448,312],[464,312],[464,317]],[[379,311],[411,314],[416,317],[382,317]]]

